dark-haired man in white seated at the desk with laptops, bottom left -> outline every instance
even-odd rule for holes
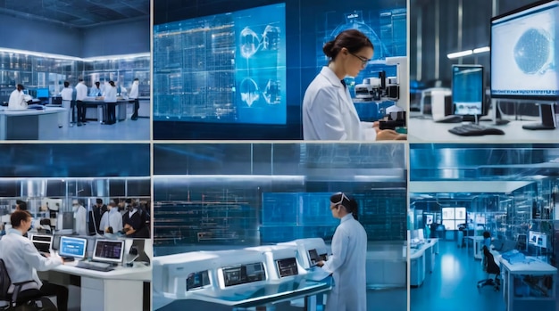
[[[41,282],[37,271],[47,271],[63,265],[63,259],[52,253],[43,257],[28,238],[23,237],[31,227],[31,214],[26,210],[16,210],[10,217],[12,229],[0,241],[0,258],[4,259],[6,270],[12,283],[29,282],[23,285],[19,298],[56,296],[59,311],[68,310],[68,289],[50,282]],[[8,292],[13,292],[13,285]]]

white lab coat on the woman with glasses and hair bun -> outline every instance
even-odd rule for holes
[[[375,140],[371,122],[361,122],[349,91],[329,67],[323,67],[303,99],[305,140]]]

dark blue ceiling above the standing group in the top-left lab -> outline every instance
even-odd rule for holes
[[[149,0],[0,0],[0,14],[89,28],[149,17]]]

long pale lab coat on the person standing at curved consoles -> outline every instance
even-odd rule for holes
[[[322,269],[333,274],[326,311],[366,311],[367,233],[354,217],[342,217],[332,238],[332,255]]]

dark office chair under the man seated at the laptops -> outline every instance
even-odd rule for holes
[[[38,290],[21,291],[24,284],[35,281],[25,281],[13,283],[13,293],[9,293],[12,280],[8,270],[4,265],[4,260],[0,259],[0,301],[4,302],[3,311],[58,311],[54,303],[41,295]]]

